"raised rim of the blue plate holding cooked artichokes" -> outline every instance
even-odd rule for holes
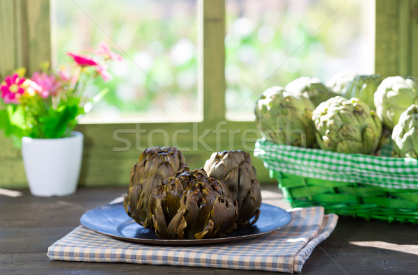
[[[102,235],[107,235],[109,237],[113,237],[114,239],[120,239],[122,241],[130,242],[130,243],[157,244],[157,245],[162,245],[162,246],[164,246],[164,245],[166,245],[166,246],[167,245],[170,245],[170,246],[172,246],[172,245],[194,246],[194,245],[201,245],[201,244],[222,244],[222,243],[226,243],[226,242],[237,242],[237,241],[244,240],[244,239],[254,239],[256,237],[261,237],[263,235],[267,235],[267,234],[273,233],[274,231],[277,231],[281,228],[284,228],[285,226],[287,226],[292,221],[291,214],[288,211],[284,210],[283,208],[278,207],[276,205],[270,205],[268,203],[261,203],[261,205],[268,205],[268,207],[278,208],[288,218],[287,222],[284,223],[281,226],[278,226],[277,228],[274,228],[274,229],[266,231],[266,232],[240,235],[240,236],[230,236],[230,237],[226,236],[226,237],[218,237],[218,238],[210,238],[210,239],[149,239],[149,238],[125,237],[125,236],[121,236],[121,235],[105,233],[105,232],[102,232],[100,230],[96,230],[96,229],[91,228],[90,226],[86,225],[85,222],[83,221],[85,215],[88,212],[91,212],[93,210],[103,210],[104,207],[123,207],[123,203],[118,202],[118,203],[108,203],[107,205],[100,205],[98,207],[92,208],[91,210],[88,210],[88,211],[84,212],[84,214],[82,214],[82,217],[80,217],[80,223],[82,223],[82,225],[84,227],[86,227],[90,230],[93,230],[97,233],[100,233]],[[261,213],[263,213],[263,212],[261,212]],[[127,216],[127,218],[128,218],[127,221],[130,221],[130,220],[134,221],[129,216]],[[119,224],[119,226],[121,226],[121,224]],[[114,230],[114,233],[118,233],[117,228]]]

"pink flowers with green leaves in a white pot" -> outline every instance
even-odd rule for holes
[[[83,134],[73,129],[77,118],[107,93],[88,99],[86,85],[96,77],[111,79],[107,61],[121,60],[103,42],[95,56],[68,56],[70,68],[53,71],[45,63],[31,77],[20,68],[0,84],[0,129],[22,147],[29,189],[36,196],[65,196],[77,189]]]

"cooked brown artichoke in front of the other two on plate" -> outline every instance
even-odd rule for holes
[[[161,239],[223,237],[235,229],[238,215],[228,188],[202,168],[161,182],[149,204],[155,234]]]

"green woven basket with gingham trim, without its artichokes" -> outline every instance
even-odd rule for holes
[[[293,207],[322,205],[327,212],[365,219],[418,223],[418,160],[343,154],[259,139],[263,160]]]

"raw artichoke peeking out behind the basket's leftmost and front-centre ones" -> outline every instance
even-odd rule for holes
[[[286,91],[306,97],[314,103],[315,107],[336,96],[330,88],[315,77],[299,77],[286,85]]]

